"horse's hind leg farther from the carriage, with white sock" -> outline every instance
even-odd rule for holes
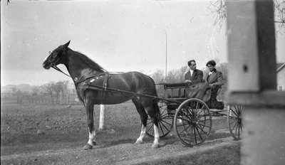
[[[143,137],[145,137],[145,129],[147,126],[147,113],[145,112],[145,107],[142,106],[142,104],[138,101],[137,98],[133,98],[132,101],[135,104],[135,107],[138,110],[138,113],[140,114],[140,120],[142,121],[140,137],[138,137],[135,144],[141,144]]]

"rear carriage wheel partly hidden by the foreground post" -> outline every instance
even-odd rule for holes
[[[229,126],[229,132],[235,140],[241,139],[242,128],[244,127],[244,124],[242,124],[243,112],[244,107],[242,107],[242,105],[229,106],[227,124]]]

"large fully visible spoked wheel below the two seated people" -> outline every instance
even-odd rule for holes
[[[174,117],[174,129],[182,144],[193,147],[202,144],[212,128],[209,107],[202,100],[182,102]]]

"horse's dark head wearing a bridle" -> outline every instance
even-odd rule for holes
[[[66,54],[68,49],[68,45],[71,41],[64,44],[63,46],[58,46],[53,52],[49,52],[50,55],[43,61],[43,68],[49,69],[53,66],[56,66],[61,63],[61,57]]]

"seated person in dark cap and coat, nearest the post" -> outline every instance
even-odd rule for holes
[[[223,75],[221,72],[216,70],[216,62],[214,62],[214,60],[209,60],[206,66],[209,68],[209,73],[206,75],[206,82],[209,87],[212,88],[211,97],[209,102],[207,102],[207,105],[210,108],[217,108],[218,110],[222,110],[224,109],[224,103],[217,101],[217,95],[219,89],[222,87],[222,85],[224,85]]]

